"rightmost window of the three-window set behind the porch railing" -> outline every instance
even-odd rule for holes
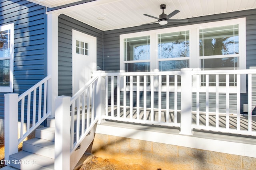
[[[237,70],[239,61],[238,24],[199,30],[201,70]],[[209,85],[215,86],[215,75],[209,76]],[[230,86],[236,86],[236,75],[230,75]],[[219,85],[226,85],[226,76],[220,75]],[[205,76],[201,76],[205,86]]]

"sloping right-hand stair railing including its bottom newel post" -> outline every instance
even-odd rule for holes
[[[69,96],[56,98],[54,164],[62,170],[74,168],[70,167],[71,154],[94,125],[101,121],[101,114],[104,111],[104,107],[102,108],[104,80],[100,74],[100,71],[96,72],[72,98]]]

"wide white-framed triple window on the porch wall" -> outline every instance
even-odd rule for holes
[[[216,26],[217,25],[217,26]],[[246,19],[184,25],[120,35],[120,70],[178,71],[246,69]],[[241,76],[241,92],[246,92],[246,77]],[[170,82],[172,82],[170,77]],[[179,80],[178,80],[179,81]],[[164,78],[162,78],[164,85]],[[205,77],[201,77],[205,86]],[[209,76],[215,86],[215,76]],[[236,86],[236,75],[230,75]],[[219,76],[219,86],[226,76]]]

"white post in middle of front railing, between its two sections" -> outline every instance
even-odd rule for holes
[[[192,131],[192,68],[181,69],[180,134],[193,135]]]

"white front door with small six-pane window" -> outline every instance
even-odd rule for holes
[[[97,39],[72,30],[72,92],[82,88],[96,71]]]

